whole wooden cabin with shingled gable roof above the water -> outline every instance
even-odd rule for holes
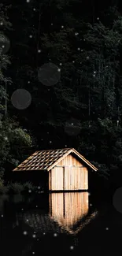
[[[13,172],[47,191],[87,191],[89,172],[96,172],[74,148],[36,151]],[[22,176],[23,178],[22,178]]]

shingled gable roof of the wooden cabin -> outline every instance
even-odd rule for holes
[[[64,159],[68,154],[74,154],[76,157],[83,161],[87,165],[97,171],[98,169],[87,161],[83,155],[79,154],[74,148],[64,148],[64,149],[56,149],[56,150],[40,150],[35,151],[34,154],[31,154],[29,158],[23,161],[17,168],[13,169],[13,171],[28,171],[28,170],[47,170],[50,171],[58,162]]]

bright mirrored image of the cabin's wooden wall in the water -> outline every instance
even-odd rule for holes
[[[89,200],[87,192],[50,194],[50,217],[69,233],[87,216]]]

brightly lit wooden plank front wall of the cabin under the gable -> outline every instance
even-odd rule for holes
[[[88,171],[69,154],[49,172],[50,191],[75,191],[88,189]]]

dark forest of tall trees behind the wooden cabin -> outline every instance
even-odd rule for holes
[[[106,186],[122,184],[122,9],[3,1],[0,178],[35,150],[65,147],[91,161]]]

